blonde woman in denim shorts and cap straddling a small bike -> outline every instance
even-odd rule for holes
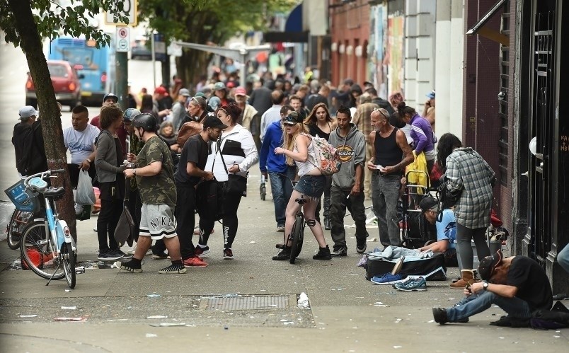
[[[331,260],[332,255],[330,248],[326,245],[322,226],[315,218],[316,205],[326,186],[326,176],[322,175],[316,166],[314,144],[311,136],[306,134],[308,129],[306,129],[306,125],[302,122],[299,114],[291,112],[287,117],[284,117],[282,124],[284,125],[283,146],[277,147],[275,154],[284,154],[287,164],[296,163],[300,177],[297,185],[294,186],[289,204],[287,205],[287,219],[284,223],[285,239],[292,232],[294,217],[300,207],[302,207],[306,224],[308,224],[314,234],[319,247],[318,253],[312,258],[314,260]],[[307,201],[302,206],[295,201],[300,197],[306,197]],[[291,246],[292,243],[290,242],[284,243],[284,248],[277,256],[272,257],[272,260],[289,260]]]

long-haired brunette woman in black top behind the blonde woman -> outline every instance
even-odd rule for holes
[[[304,120],[304,125],[308,128],[309,134],[311,136],[318,136],[328,141],[330,134],[336,128],[336,122],[330,116],[328,107],[325,103],[318,103],[314,105],[309,116]],[[332,176],[326,177],[326,186],[324,187],[324,228],[330,230],[332,225],[328,217],[330,211],[330,189],[332,187]],[[318,206],[316,207],[316,221],[320,221],[320,209],[321,202],[318,201]]]

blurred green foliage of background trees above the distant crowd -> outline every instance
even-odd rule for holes
[[[139,16],[150,28],[169,40],[224,45],[231,37],[263,30],[277,11],[290,11],[295,0],[139,0]],[[185,82],[197,82],[207,74],[212,55],[184,49],[176,58],[177,74]]]

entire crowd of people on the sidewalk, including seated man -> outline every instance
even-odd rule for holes
[[[350,79],[334,89],[317,80],[292,84],[268,78],[246,87],[231,80],[205,81],[199,91],[190,93],[176,84],[173,90],[160,86],[154,95],[130,94],[132,106],[124,112],[117,105],[118,97],[109,93],[90,124],[87,108],[74,107],[72,126],[64,129],[64,145],[71,154],[71,184],[75,186],[80,170],[86,170],[100,190],[98,259],[126,260],[116,265],[130,272],[142,272],[145,255],[170,258],[171,265],[159,271],[165,274],[206,267],[209,236],[218,220],[205,205],[212,184],[224,186],[217,194],[224,203],[219,219],[222,255],[233,259],[238,207],[246,196],[248,172],[257,162],[260,173],[270,180],[275,231],[284,233],[282,249],[272,260],[289,259],[287,235],[301,208],[318,243],[314,260],[349,253],[347,210],[355,221],[356,253],[364,253],[369,236],[365,199],[372,200],[381,245],[401,246],[397,208],[407,183],[406,167],[423,155],[427,173],[442,173],[447,192],[459,195],[452,207],[430,196],[411,200],[437,228],[437,241],[420,250],[450,254],[458,248],[461,254],[461,279],[451,287],[464,289],[466,297],[452,308],[433,309],[435,320],[465,322],[490,303],[510,316],[522,317],[532,308],[551,307],[551,288],[539,265],[527,257],[490,254],[485,232],[495,173],[453,134],[437,139],[435,91],[427,93],[421,115],[406,105],[402,93],[384,99],[372,83],[362,86]],[[47,169],[37,117],[33,107],[24,107],[14,128],[21,175]],[[322,175],[314,137],[338,149],[342,163],[338,173]],[[306,202],[296,202],[299,197]],[[130,260],[113,236],[123,204],[137,228]],[[324,230],[331,231],[332,248]],[[478,274],[484,282],[474,282],[471,241],[478,259],[483,259]],[[568,253],[565,247],[558,254],[564,267],[569,267]],[[529,289],[530,280],[540,283],[539,293]]]

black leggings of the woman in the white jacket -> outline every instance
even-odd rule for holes
[[[237,235],[237,209],[242,197],[241,192],[228,192],[224,197],[223,241],[224,248],[231,248]],[[215,221],[208,219],[207,215],[200,214],[200,245],[207,245],[209,235],[212,233]]]

